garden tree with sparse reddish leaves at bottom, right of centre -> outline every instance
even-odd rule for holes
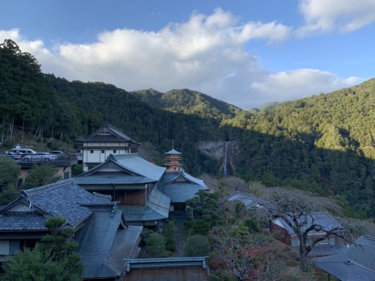
[[[213,270],[220,272],[224,268],[236,280],[280,280],[279,246],[272,237],[239,226],[229,230],[212,228],[210,239]],[[222,276],[222,279],[227,278]]]

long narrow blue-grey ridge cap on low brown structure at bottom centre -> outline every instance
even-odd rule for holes
[[[195,267],[206,268],[205,259],[208,256],[184,256],[178,258],[162,259],[124,259],[126,261],[126,270],[129,272],[132,268],[180,268]]]

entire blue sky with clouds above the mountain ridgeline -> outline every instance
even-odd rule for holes
[[[44,73],[201,91],[243,109],[374,77],[374,0],[0,0]]]

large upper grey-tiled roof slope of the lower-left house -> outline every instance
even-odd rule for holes
[[[48,212],[51,216],[62,216],[67,219],[68,226],[78,223],[91,215],[87,207],[80,203],[109,202],[110,197],[96,196],[72,180],[58,181],[39,188],[23,190],[22,196],[32,204]]]

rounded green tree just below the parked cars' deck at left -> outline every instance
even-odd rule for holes
[[[53,166],[42,164],[35,165],[27,174],[24,189],[37,188],[49,183],[56,183],[61,180],[61,176],[56,175],[57,169]]]

